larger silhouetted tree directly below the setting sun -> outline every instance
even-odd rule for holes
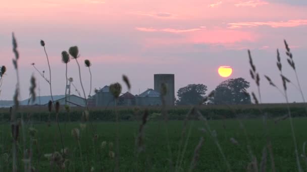
[[[227,79],[218,85],[215,96],[210,101],[216,105],[250,104],[250,95],[243,91],[248,88],[249,82],[242,77]]]

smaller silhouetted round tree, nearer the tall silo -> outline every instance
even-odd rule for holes
[[[207,86],[204,84],[189,84],[177,92],[176,105],[197,105],[206,96]]]

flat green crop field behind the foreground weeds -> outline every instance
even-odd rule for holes
[[[116,166],[119,171],[174,171],[170,165],[170,160],[175,166],[178,156],[178,148],[182,135],[184,121],[168,121],[165,125],[164,121],[148,121],[144,128],[144,149],[136,154],[135,138],[138,135],[140,121],[120,122],[119,123],[119,164],[116,165],[116,158],[109,156],[109,142],[113,142],[112,150],[116,151],[117,139],[117,123],[115,122],[96,122],[93,128],[98,134],[96,141],[93,141],[92,127],[87,123],[85,129],[80,128],[80,123],[73,122],[61,123],[64,145],[69,149],[69,164],[66,164],[66,171],[82,171],[82,161],[85,171],[90,171],[94,167],[95,171],[113,171]],[[250,162],[250,156],[247,154],[247,145],[250,145],[252,153],[257,157],[258,165],[262,161],[262,152],[264,146],[267,145],[265,131],[272,141],[272,150],[275,160],[276,171],[297,171],[294,144],[291,135],[289,119],[280,121],[275,124],[269,120],[267,130],[264,129],[263,121],[260,119],[242,120],[247,137],[244,130],[240,127],[239,121],[231,120],[212,120],[209,121],[212,130],[216,130],[218,142],[221,145],[223,153],[230,164],[232,171],[246,171],[247,164]],[[293,120],[295,134],[298,144],[298,152],[302,154],[302,145],[307,141],[307,118],[295,118]],[[30,138],[28,127],[30,124],[25,123],[24,135],[19,136],[18,144],[18,166],[23,169],[23,145],[27,148],[31,147],[33,152],[32,165],[39,171],[59,171],[55,165],[50,165],[50,161],[44,154],[53,153],[62,149],[60,134],[57,123],[53,122],[50,127],[46,123],[33,124],[37,130],[35,139],[37,144],[30,146]],[[166,132],[168,129],[168,135]],[[190,135],[189,128],[191,126]],[[80,129],[80,146],[82,149],[82,160],[78,142],[71,135],[73,128]],[[181,171],[188,171],[194,154],[194,149],[199,142],[200,137],[204,138],[204,142],[199,150],[199,158],[193,171],[227,171],[225,160],[223,160],[213,137],[207,132],[201,131],[204,128],[203,121],[188,121],[186,135],[183,139],[188,140],[186,151],[183,156]],[[0,148],[2,155],[8,153],[9,159],[2,156],[0,160],[0,171],[12,171],[12,136],[9,125],[0,125]],[[25,144],[23,141],[25,136]],[[233,144],[230,138],[235,138],[238,145]],[[248,141],[247,141],[248,140]],[[101,142],[107,141],[107,145],[101,148]],[[169,141],[169,144],[168,144]],[[171,154],[168,149],[171,148]],[[184,146],[182,146],[184,147]],[[182,151],[181,151],[182,152]],[[271,158],[269,150],[267,151],[267,171],[271,171]],[[67,157],[66,157],[67,158]],[[304,170],[307,169],[306,159],[299,157]],[[5,161],[7,160],[7,161]]]

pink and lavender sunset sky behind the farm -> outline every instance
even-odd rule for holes
[[[21,96],[29,97],[30,77],[36,77],[37,95],[49,95],[48,83],[31,66],[45,71],[48,65],[40,46],[45,41],[52,69],[54,95],[65,94],[65,64],[61,52],[78,46],[81,77],[89,94],[92,63],[92,93],[113,82],[123,84],[129,77],[136,95],[154,88],[155,73],[175,74],[175,91],[187,84],[202,83],[208,93],[227,78],[219,66],[231,66],[229,78],[250,82],[248,92],[257,92],[249,75],[247,49],[261,75],[263,103],[285,100],[271,87],[264,74],[282,88],[276,66],[276,49],[283,72],[293,83],[295,74],[286,61],[283,40],[290,45],[304,95],[307,95],[307,2],[304,0],[11,0],[0,5],[0,65],[7,66],[0,100],[12,100],[16,71],[12,64],[12,32],[18,42]],[[68,64],[68,76],[81,91],[77,63]],[[72,90],[72,94],[76,94]],[[288,85],[290,102],[302,98]]]

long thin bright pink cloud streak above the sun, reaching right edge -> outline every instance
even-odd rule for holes
[[[270,26],[272,28],[279,27],[297,27],[301,25],[307,25],[307,20],[289,20],[286,22],[238,22],[229,23],[229,29],[236,29],[241,27],[257,27],[257,26]]]

